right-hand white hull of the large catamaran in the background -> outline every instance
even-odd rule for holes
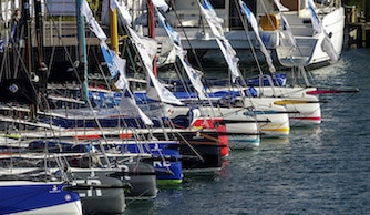
[[[308,13],[308,11],[306,11]],[[276,47],[277,59],[284,66],[306,66],[330,61],[330,57],[322,50],[325,33],[329,35],[333,50],[340,54],[345,35],[345,9],[342,7],[328,12],[322,17],[321,23],[325,32],[315,34],[312,25],[307,20],[308,14],[299,14],[298,11],[284,12],[288,20],[290,30],[295,37],[297,48],[280,38]]]

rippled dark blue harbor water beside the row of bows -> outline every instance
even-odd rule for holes
[[[127,202],[124,214],[367,214],[370,211],[370,50],[345,50],[311,70],[318,85],[359,93],[320,95],[322,123],[292,127],[232,151],[223,170],[185,174],[153,201]]]

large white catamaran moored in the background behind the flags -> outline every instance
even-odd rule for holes
[[[279,12],[275,6],[275,1],[244,1],[256,14],[259,22],[260,33],[267,49],[273,51],[275,63],[289,61],[286,57],[289,53],[289,48],[285,47],[285,41],[281,41],[284,35],[280,33],[279,23],[282,23],[280,14],[284,14],[287,21],[294,29],[294,35],[300,43],[300,50],[294,51],[294,55],[302,60],[306,58],[308,64],[319,64],[330,61],[327,52],[321,49],[323,41],[323,34],[316,35],[314,33],[311,24],[311,14],[307,4],[307,0],[282,0],[281,6],[288,9],[284,12]],[[225,31],[225,37],[230,41],[234,49],[237,51],[249,50],[250,43],[248,40],[253,40],[253,44],[257,44],[257,38],[255,38],[253,31],[246,35],[244,27],[239,20],[238,12],[235,8],[237,2],[235,0],[215,1],[215,10],[219,17],[225,20],[222,24]],[[314,0],[316,4],[316,11],[318,19],[322,23],[329,40],[332,42],[335,50],[338,54],[341,53],[343,41],[343,27],[345,27],[345,11],[340,0],[319,1]],[[134,7],[133,7],[134,8]],[[137,11],[135,14],[140,13]],[[206,55],[207,52],[217,50],[218,45],[214,41],[213,33],[206,28],[205,21],[199,16],[199,7],[195,0],[175,1],[173,2],[172,10],[168,12],[168,22],[174,28],[179,28],[181,40],[186,50],[195,50],[197,57]],[[143,21],[146,14],[134,17],[137,25],[143,25],[145,30],[146,22]],[[135,19],[136,18],[136,19]],[[274,20],[274,23],[273,23]],[[186,31],[181,31],[181,28],[186,28]],[[250,39],[248,39],[248,37]],[[163,45],[162,50],[171,50],[165,34],[157,34],[157,40]],[[257,47],[258,49],[258,47]],[[169,51],[165,52],[167,54]],[[304,55],[302,55],[304,54]],[[169,58],[169,57],[168,57]],[[263,58],[263,57],[261,57]],[[251,59],[244,59],[244,61],[253,62]]]

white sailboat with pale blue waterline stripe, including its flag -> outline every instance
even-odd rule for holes
[[[201,112],[201,115],[208,117],[223,117],[226,131],[228,133],[228,137],[233,140],[238,140],[237,142],[233,142],[233,144],[230,144],[230,149],[245,149],[257,146],[259,144],[259,133],[256,119],[250,115],[238,114],[244,111],[240,108],[233,109],[230,106],[219,106],[213,104],[210,100],[207,100],[206,89],[202,83],[203,73],[194,69],[187,61],[186,51],[182,47],[178,33],[173,30],[168,22],[166,22],[166,19],[158,9],[156,9],[156,17],[158,23],[162,25],[163,30],[167,33],[169,40],[172,41],[176,57],[181,62],[179,64],[186,72],[186,78],[189,80],[189,88],[187,88],[186,83],[184,82],[179,83],[184,84],[184,91],[175,91],[174,94],[176,95],[176,98],[181,99],[181,101],[186,103],[186,99],[182,99],[184,98],[184,95],[181,95],[181,93],[187,94],[187,96],[194,99],[191,102],[187,102],[187,105],[196,105]],[[177,71],[177,73],[179,73],[179,71]],[[181,78],[181,80],[183,79],[184,78]],[[192,92],[192,89],[194,89],[194,92]],[[198,99],[198,101],[196,101],[196,99]],[[176,106],[173,109],[175,112],[174,114],[182,114],[185,111],[182,110],[181,106]]]

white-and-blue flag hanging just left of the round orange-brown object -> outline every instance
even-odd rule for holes
[[[240,8],[241,8],[241,13],[247,17],[247,20],[248,22],[250,23],[255,34],[256,34],[256,39],[258,40],[258,43],[259,43],[259,49],[260,51],[264,53],[265,55],[265,59],[266,59],[266,62],[268,64],[268,68],[269,68],[269,71],[271,73],[276,72],[276,69],[273,64],[273,59],[271,59],[271,55],[270,53],[267,51],[263,40],[260,39],[260,35],[259,35],[259,32],[258,32],[258,24],[257,24],[257,19],[255,17],[255,14],[249,10],[249,8],[247,7],[247,4],[239,0],[239,4],[240,4]]]

